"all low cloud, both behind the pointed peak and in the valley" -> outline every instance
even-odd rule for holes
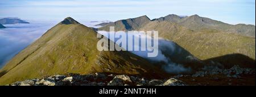
[[[102,23],[101,21],[84,21],[82,24],[88,27],[98,28],[94,25]],[[10,24],[5,25],[5,29],[0,29],[0,68],[3,67],[13,56],[18,54],[25,47],[34,42],[43,33],[47,32],[48,29],[53,27],[57,23],[31,23],[31,24]],[[108,33],[99,31],[98,33]],[[138,33],[133,33],[138,36]],[[144,36],[142,38],[145,38]],[[185,68],[179,61],[174,61],[184,58],[189,54],[182,52],[183,50],[172,41],[159,39],[158,55],[154,58],[148,58],[147,54],[151,51],[130,51],[133,54],[139,55],[143,58],[151,60],[153,63],[162,63],[163,69],[169,73],[183,73],[189,72],[190,68]],[[136,45],[134,45],[136,46]],[[140,45],[139,48],[141,49]],[[182,54],[182,55],[181,55]]]

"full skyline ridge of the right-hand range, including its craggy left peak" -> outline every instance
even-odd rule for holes
[[[142,23],[135,23],[135,22]],[[143,22],[144,21],[144,22]],[[110,23],[105,25],[104,27],[98,28],[98,30],[106,30],[109,31],[109,27],[115,27],[116,31],[129,31],[129,30],[139,30],[140,28],[144,27],[147,23],[151,21],[169,21],[172,23],[176,23],[182,27],[186,27],[191,30],[195,30],[200,32],[204,29],[211,29],[211,30],[218,30],[220,32],[225,33],[234,33],[239,34],[241,36],[247,37],[255,37],[255,25],[251,24],[228,24],[222,21],[213,20],[207,17],[201,17],[199,15],[191,15],[191,16],[178,16],[175,14],[170,14],[164,17],[159,17],[158,19],[150,20],[146,15],[139,16],[135,18],[129,18],[125,20],[118,20],[114,23]]]

